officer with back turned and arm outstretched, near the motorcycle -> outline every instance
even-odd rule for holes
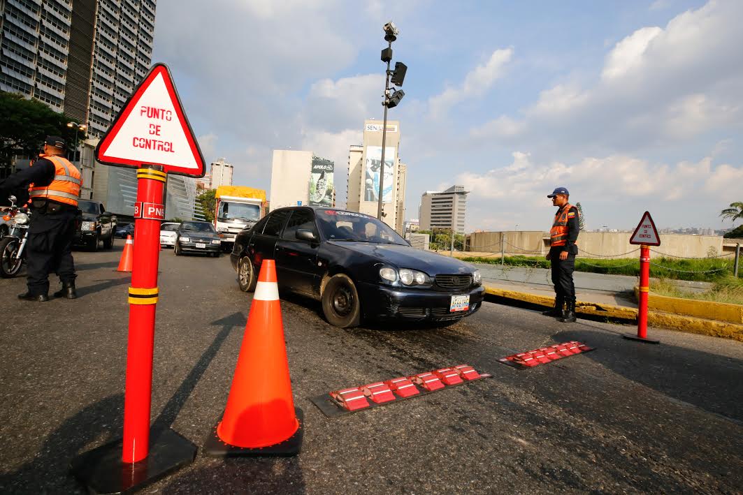
[[[31,215],[26,243],[28,290],[18,296],[24,301],[49,301],[51,272],[56,272],[62,281],[62,289],[54,293],[56,297],[77,297],[77,275],[71,250],[82,177],[62,156],[64,153],[65,141],[58,136],[48,136],[43,153],[33,165],[0,182],[0,193],[4,195],[30,185]]]

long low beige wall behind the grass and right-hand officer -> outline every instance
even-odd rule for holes
[[[501,252],[501,239],[507,255],[546,255],[549,233],[541,231],[473,232],[467,235],[467,251]],[[635,258],[639,246],[629,243],[631,232],[581,232],[578,236],[580,256],[585,258]],[[655,249],[671,256],[704,258],[710,252],[723,254],[723,237],[716,235],[661,234],[661,246]],[[626,254],[632,252],[632,254]]]

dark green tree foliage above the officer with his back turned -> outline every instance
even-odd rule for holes
[[[10,169],[13,155],[34,157],[41,151],[44,138],[61,136],[74,148],[75,130],[68,128],[74,119],[53,111],[36,99],[0,91],[0,169]],[[78,132],[78,141],[85,133]],[[0,170],[0,177],[2,171]]]

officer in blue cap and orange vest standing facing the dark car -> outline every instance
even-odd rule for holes
[[[550,229],[550,252],[547,259],[551,260],[552,283],[555,287],[555,305],[542,315],[560,317],[560,321],[568,323],[575,321],[575,285],[573,283],[573,269],[575,255],[578,254],[578,239],[580,226],[578,223],[578,209],[568,203],[568,189],[558,187],[547,197],[557,206],[552,229]],[[565,309],[562,305],[565,304]]]

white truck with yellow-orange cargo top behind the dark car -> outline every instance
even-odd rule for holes
[[[215,193],[214,227],[224,252],[232,251],[236,235],[265,215],[266,191],[246,186],[219,186]]]

